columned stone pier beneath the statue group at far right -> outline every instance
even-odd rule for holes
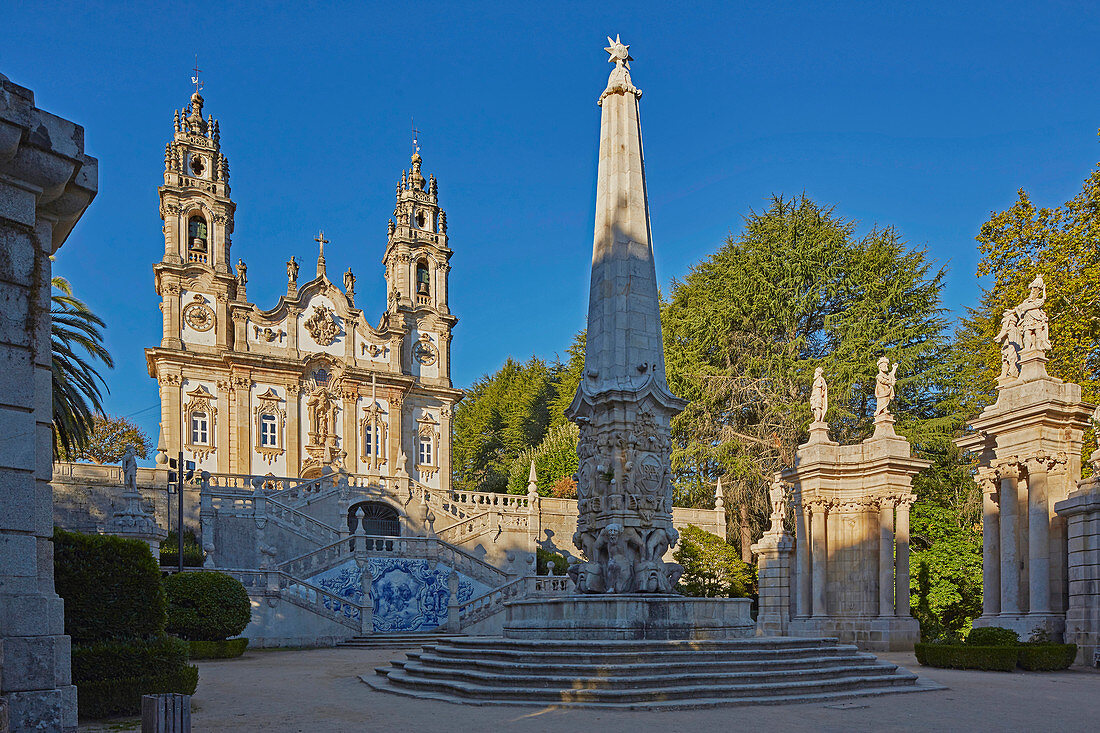
[[[978,456],[982,489],[982,614],[976,627],[1036,630],[1056,641],[1067,609],[1066,518],[1055,504],[1076,488],[1091,406],[1081,389],[1046,373],[1037,349],[1019,376],[998,380],[997,402],[958,440]]]

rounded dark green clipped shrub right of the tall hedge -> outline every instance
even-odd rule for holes
[[[252,619],[244,586],[223,572],[177,572],[164,587],[168,633],[180,638],[220,642],[240,634]]]

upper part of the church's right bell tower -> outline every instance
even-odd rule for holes
[[[403,371],[450,386],[451,329],[458,318],[448,305],[447,212],[439,207],[436,176],[425,179],[420,154],[402,171],[397,203],[389,220],[383,264],[387,310],[400,318],[408,336]],[[426,369],[421,369],[426,368]]]

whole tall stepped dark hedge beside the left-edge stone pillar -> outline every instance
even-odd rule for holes
[[[167,602],[148,545],[55,529],[54,579],[81,716],[136,714],[142,694],[195,692],[187,644],[164,633]]]

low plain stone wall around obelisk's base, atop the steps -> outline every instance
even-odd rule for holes
[[[528,639],[707,639],[754,635],[747,598],[566,595],[506,604],[504,635]]]

